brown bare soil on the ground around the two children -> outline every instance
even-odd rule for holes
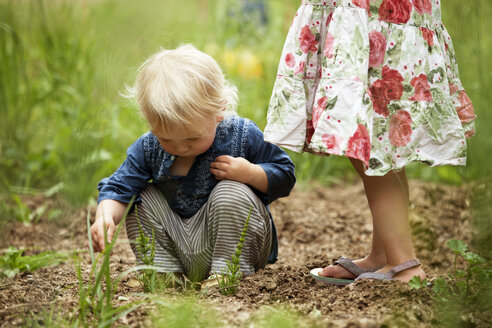
[[[410,223],[417,256],[432,280],[448,272],[454,256],[446,247],[451,238],[471,240],[470,201],[466,187],[411,181]],[[31,208],[55,206],[41,196],[24,199]],[[246,277],[233,296],[215,287],[202,297],[223,313],[229,326],[244,326],[264,305],[281,304],[327,327],[426,327],[433,320],[432,301],[423,290],[410,290],[394,281],[361,281],[338,287],[316,282],[310,269],[326,266],[340,256],[357,259],[370,248],[372,224],[362,186],[296,187],[292,194],[271,205],[279,235],[279,261]],[[64,219],[41,218],[29,226],[3,224],[0,249],[26,249],[26,254],[46,250],[86,249],[87,207]],[[114,275],[134,265],[124,233],[115,246]],[[82,271],[90,271],[88,252],[82,254]],[[142,292],[134,277],[120,283],[119,305]],[[74,313],[78,303],[75,265],[68,261],[0,281],[0,327],[24,326],[35,314],[54,304],[59,313]],[[175,292],[176,293],[176,292]],[[122,297],[123,296],[123,297]],[[229,318],[229,319],[227,319]],[[27,321],[26,321],[27,320]],[[145,309],[130,313],[118,323],[139,327],[148,323]]]

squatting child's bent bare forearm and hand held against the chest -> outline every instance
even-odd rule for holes
[[[261,166],[242,157],[222,155],[210,164],[210,172],[217,180],[233,180],[268,192],[268,178]]]

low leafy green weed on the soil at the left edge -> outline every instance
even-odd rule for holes
[[[0,278],[12,278],[20,272],[33,272],[40,268],[58,265],[70,258],[73,252],[47,251],[36,255],[23,255],[24,249],[10,246],[0,257]]]

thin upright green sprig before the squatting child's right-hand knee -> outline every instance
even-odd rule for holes
[[[248,217],[246,218],[246,222],[244,222],[243,231],[239,237],[239,243],[236,246],[234,254],[232,254],[230,261],[226,260],[226,269],[221,270],[221,274],[218,277],[220,287],[219,290],[222,295],[233,295],[239,286],[239,282],[243,278],[243,273],[239,270],[239,257],[241,256],[244,240],[246,238],[246,232],[248,231],[249,218],[251,216],[252,208],[252,206],[249,208]]]

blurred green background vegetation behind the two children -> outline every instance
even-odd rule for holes
[[[250,1],[254,5],[254,1]],[[297,0],[265,1],[265,17],[241,1],[0,1],[0,168],[7,190],[63,183],[76,205],[146,131],[120,95],[157,49],[193,43],[213,55],[240,92],[239,113],[265,125],[278,59]],[[488,175],[491,38],[486,1],[449,0],[443,20],[479,115],[466,168],[411,165],[412,178],[460,184]],[[254,8],[253,8],[254,9]],[[348,161],[292,154],[301,181],[353,177]],[[486,172],[485,172],[486,171]],[[13,188],[13,189],[12,189]]]

